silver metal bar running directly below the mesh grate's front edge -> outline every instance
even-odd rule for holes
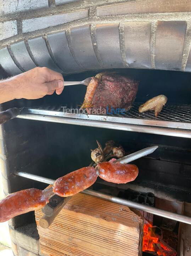
[[[142,126],[136,124],[124,124],[124,123],[114,123],[105,121],[94,121],[94,120],[84,120],[75,119],[67,117],[57,117],[57,116],[44,116],[40,114],[20,114],[17,118],[30,119],[37,121],[53,122],[53,123],[64,123],[64,124],[74,124],[89,127],[107,128],[115,130],[125,130],[129,132],[142,132],[151,133],[159,135],[168,135],[182,138],[191,138],[191,130],[184,129],[174,129],[165,127],[155,127],[155,126]]]

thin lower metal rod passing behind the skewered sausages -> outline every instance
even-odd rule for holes
[[[38,175],[28,174],[27,172],[16,172],[15,175],[25,177],[25,178],[29,178],[29,179],[35,180],[35,181],[40,181],[40,182],[43,182],[43,183],[46,183],[46,184],[53,184],[54,181],[55,181],[55,180],[45,178],[45,177],[41,177],[41,176],[38,176]],[[155,214],[155,215],[158,215],[158,216],[161,216],[161,217],[165,217],[165,218],[168,218],[168,219],[172,219],[172,220],[176,220],[176,221],[179,221],[179,222],[191,224],[191,218],[190,217],[180,215],[180,214],[177,214],[177,213],[171,213],[171,212],[168,212],[166,210],[161,210],[161,209],[157,209],[157,208],[154,208],[154,207],[151,207],[151,206],[146,206],[144,204],[140,204],[140,203],[136,203],[136,202],[126,200],[126,199],[110,196],[110,195],[103,194],[103,193],[93,191],[93,190],[86,189],[86,190],[84,190],[80,193],[83,193],[83,194],[86,194],[86,195],[89,195],[89,196],[94,196],[94,197],[97,197],[97,198],[101,198],[101,199],[104,199],[104,200],[109,201],[109,202],[118,203],[118,204],[121,204],[123,206],[128,206],[128,207],[132,207],[132,208],[135,208],[135,209],[138,209],[138,210],[143,210],[145,212],[152,213],[152,214]]]

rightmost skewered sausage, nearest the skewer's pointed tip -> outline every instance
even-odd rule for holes
[[[96,166],[96,171],[103,180],[117,184],[133,181],[139,173],[136,165],[120,164],[120,162],[112,162],[112,160],[100,162]]]

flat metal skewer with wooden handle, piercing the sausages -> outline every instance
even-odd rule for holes
[[[146,156],[148,154],[153,153],[158,146],[151,146],[145,149],[141,149],[135,153],[124,156],[123,158],[117,159],[115,162],[120,162],[122,164],[127,164],[128,162],[134,161],[136,159],[141,158],[142,156]],[[52,192],[52,188],[46,188],[44,190],[46,196],[50,197],[49,203],[43,207],[42,212],[44,213],[43,217],[41,217],[39,224],[42,228],[49,228],[52,224],[58,213],[62,210],[62,208],[66,205],[66,203],[72,197],[60,197],[54,195]],[[53,196],[54,195],[54,196]]]

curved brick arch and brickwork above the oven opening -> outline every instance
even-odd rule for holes
[[[10,75],[47,63],[62,73],[191,71],[189,0],[0,1],[0,66]]]

